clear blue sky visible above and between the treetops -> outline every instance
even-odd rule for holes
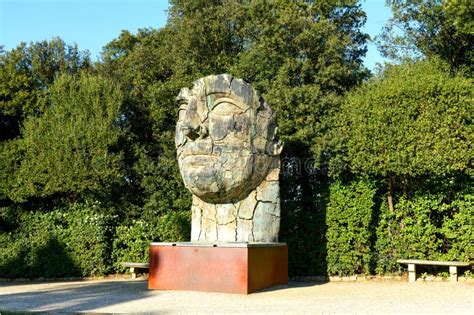
[[[385,0],[362,0],[367,13],[364,30],[377,35],[390,16]],[[61,37],[77,43],[91,56],[123,29],[160,28],[166,23],[167,0],[0,0],[0,45],[5,50],[20,42]],[[369,44],[364,60],[369,69],[382,62],[375,45]]]

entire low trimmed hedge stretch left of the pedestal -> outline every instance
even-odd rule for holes
[[[0,277],[58,278],[122,272],[122,261],[147,261],[152,241],[184,241],[188,211],[171,212],[156,224],[134,221],[116,226],[99,203],[29,212],[19,226],[0,232]]]

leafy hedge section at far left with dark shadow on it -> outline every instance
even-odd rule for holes
[[[100,204],[31,212],[15,231],[0,234],[0,277],[65,277],[111,270],[111,215]]]

